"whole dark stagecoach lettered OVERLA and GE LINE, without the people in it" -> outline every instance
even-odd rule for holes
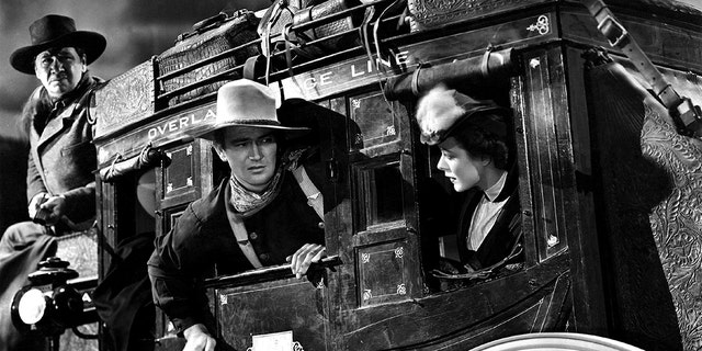
[[[679,91],[702,97],[700,11],[672,0],[605,2]],[[304,44],[288,36],[353,13],[362,21],[346,32]],[[206,35],[240,15],[219,14],[192,33]],[[699,342],[699,322],[697,330],[692,318],[679,324],[699,315],[684,308],[699,290],[676,293],[697,283],[673,274],[680,273],[675,264],[699,268],[699,246],[676,238],[684,253],[671,262],[655,240],[664,227],[667,238],[684,231],[690,239],[695,231],[648,220],[671,192],[658,182],[669,177],[641,176],[648,172],[641,162],[644,121],[623,115],[643,107],[618,105],[626,89],[612,88],[611,75],[597,70],[613,60],[648,82],[579,1],[363,1],[264,34],[168,72],[163,56],[155,56],[95,92],[98,281],[114,267],[122,242],[163,235],[227,174],[211,144],[185,132],[214,122],[217,84],[247,77],[281,99],[314,101],[348,122],[342,137],[322,141],[342,150],[324,155],[336,194],[325,197],[328,258],[315,267],[326,284],[297,280],[285,265],[212,272],[204,283],[223,350],[468,350],[544,331],[605,336],[648,350]],[[346,41],[324,45],[341,36]],[[261,43],[275,38],[282,39],[278,50],[260,55]],[[227,59],[235,64],[223,64]],[[513,112],[521,264],[469,276],[435,272],[455,254],[452,233],[439,220],[451,199],[438,195],[451,188],[435,168],[438,150],[419,143],[414,113],[418,95],[438,82]],[[661,190],[657,202],[638,196]],[[694,200],[675,204],[676,215],[699,216]],[[152,305],[141,308],[137,318],[147,337],[140,342],[180,350],[184,339],[167,318]],[[105,326],[98,325],[81,328],[103,337],[91,347],[107,349]],[[76,342],[70,335],[64,335],[66,350]]]

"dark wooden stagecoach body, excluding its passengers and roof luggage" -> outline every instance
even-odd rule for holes
[[[412,23],[411,33],[382,36],[380,58],[377,53],[369,58],[359,46],[299,64],[294,78],[286,69],[271,75],[270,86],[283,95],[304,97],[352,121],[343,146],[348,154],[338,156],[348,158],[349,166],[328,185],[330,193],[346,195],[325,199],[331,257],[324,268],[327,286],[296,280],[286,267],[206,281],[216,333],[230,347],[246,350],[253,339],[292,332],[304,350],[467,350],[516,333],[564,330],[611,336],[644,348],[650,340],[661,349],[679,347],[665,281],[654,284],[664,291],[648,292],[612,283],[618,274],[611,272],[622,268],[618,264],[649,271],[642,265],[646,262],[607,259],[616,252],[610,246],[624,242],[605,239],[612,233],[598,210],[605,199],[598,184],[608,181],[602,169],[611,165],[598,158],[592,140],[608,126],[592,123],[589,111],[597,101],[589,99],[581,57],[587,48],[608,46],[607,41],[577,1],[484,2],[464,9],[450,23],[433,24],[429,16],[423,26]],[[611,2],[667,72],[702,72],[699,13],[683,13],[679,20],[672,15],[676,7],[667,2]],[[496,57],[491,55],[503,60],[486,70],[480,65]],[[461,73],[442,76],[446,71]],[[421,77],[429,78],[416,88],[438,82],[437,77],[465,81],[467,90],[496,91],[511,106],[524,233],[522,269],[462,283],[429,273],[445,233],[427,219],[435,204],[420,186],[442,178],[435,150],[419,143],[412,121],[417,97],[411,79]],[[214,122],[215,94],[167,106],[170,95],[159,87],[152,59],[113,79],[105,87],[106,104],[99,107],[101,171],[138,157],[147,145],[170,158],[168,167],[154,170],[152,217],[138,210],[135,174],[140,173],[111,181],[98,176],[101,274],[111,263],[110,249],[135,233],[168,233],[185,206],[226,173],[208,141],[183,134]],[[646,274],[660,282],[663,275],[655,274],[659,270]],[[646,319],[616,303],[636,294],[663,296],[659,312]],[[156,349],[179,350],[183,339],[169,331],[160,313],[156,319]],[[670,322],[672,333],[667,332]]]

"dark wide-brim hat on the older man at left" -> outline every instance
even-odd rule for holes
[[[53,47],[80,47],[86,52],[90,65],[105,50],[107,41],[100,33],[77,31],[71,18],[47,14],[30,25],[32,45],[21,47],[10,56],[14,69],[34,75],[34,58],[37,54]]]

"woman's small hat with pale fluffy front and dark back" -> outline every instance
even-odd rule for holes
[[[466,123],[505,138],[506,124],[480,117],[487,113],[507,115],[509,110],[490,100],[476,100],[439,84],[419,99],[417,123],[421,131],[420,140],[428,145],[441,144],[453,131]]]

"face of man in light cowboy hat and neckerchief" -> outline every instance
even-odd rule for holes
[[[264,191],[275,174],[278,143],[269,128],[226,128],[223,146],[215,145],[215,150],[229,163],[231,174],[250,191]]]

